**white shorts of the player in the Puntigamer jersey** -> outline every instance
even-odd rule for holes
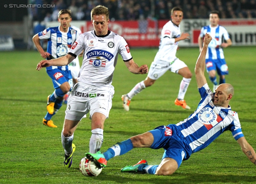
[[[104,114],[108,118],[112,108],[114,88],[92,88],[78,82],[68,98],[65,119],[81,120],[90,111],[90,119],[94,112]]]

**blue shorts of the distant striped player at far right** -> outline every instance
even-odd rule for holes
[[[225,59],[206,59],[206,70],[217,70],[218,75],[227,75],[228,74],[228,65],[226,64]]]

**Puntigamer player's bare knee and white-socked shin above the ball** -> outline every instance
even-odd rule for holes
[[[103,143],[103,128],[106,115],[95,112],[92,115],[92,136],[90,138],[90,153],[97,153]]]

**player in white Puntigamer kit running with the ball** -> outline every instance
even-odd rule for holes
[[[72,45],[64,57],[53,60],[43,60],[37,65],[37,70],[48,66],[68,65],[82,50],[83,63],[68,99],[64,126],[62,129],[62,145],[65,151],[64,166],[71,167],[75,145],[72,143],[74,131],[82,117],[90,111],[92,120],[92,136],[90,152],[100,150],[103,142],[104,121],[108,118],[112,107],[114,87],[111,85],[114,69],[121,55],[128,70],[134,74],[146,74],[148,66],[139,67],[132,59],[130,49],[123,37],[108,31],[109,11],[104,6],[96,6],[91,11],[91,22],[94,31],[88,31]]]

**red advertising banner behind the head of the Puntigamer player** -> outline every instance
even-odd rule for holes
[[[130,47],[158,47],[163,25],[168,22],[156,20],[115,21],[110,22],[108,29],[124,37]],[[90,21],[86,22],[87,30],[93,30]]]

